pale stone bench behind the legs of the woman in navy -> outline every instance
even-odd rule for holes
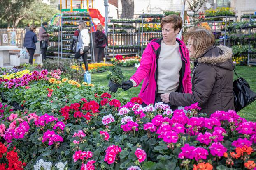
[[[13,50],[10,52],[10,63],[14,66],[19,66],[24,63],[28,63],[29,58],[21,58],[20,50]],[[34,54],[33,59],[35,59],[35,64],[42,64],[42,54]]]

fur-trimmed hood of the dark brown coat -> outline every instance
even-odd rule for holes
[[[234,70],[235,66],[232,61],[232,50],[229,47],[219,45],[211,46],[207,52],[200,58],[198,58],[198,63],[207,63],[228,70]]]

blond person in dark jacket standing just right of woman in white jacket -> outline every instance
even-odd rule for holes
[[[99,24],[97,26],[97,31],[95,33],[95,43],[96,48],[98,48],[98,57],[97,61],[100,63],[102,53],[104,52],[104,48],[107,46],[107,36],[103,32],[103,26]]]

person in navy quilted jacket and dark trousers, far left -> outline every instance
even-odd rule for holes
[[[35,29],[37,27],[35,25],[30,26],[30,30],[26,32],[25,38],[24,38],[24,47],[27,48],[29,53],[29,63],[32,64],[33,56],[35,54],[35,43],[37,42],[37,34],[35,34]]]

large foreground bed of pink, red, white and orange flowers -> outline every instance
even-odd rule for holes
[[[0,103],[1,169],[255,169],[256,122],[235,111],[208,117],[197,104],[143,108],[140,98],[46,71],[1,79],[8,101],[25,107]]]

